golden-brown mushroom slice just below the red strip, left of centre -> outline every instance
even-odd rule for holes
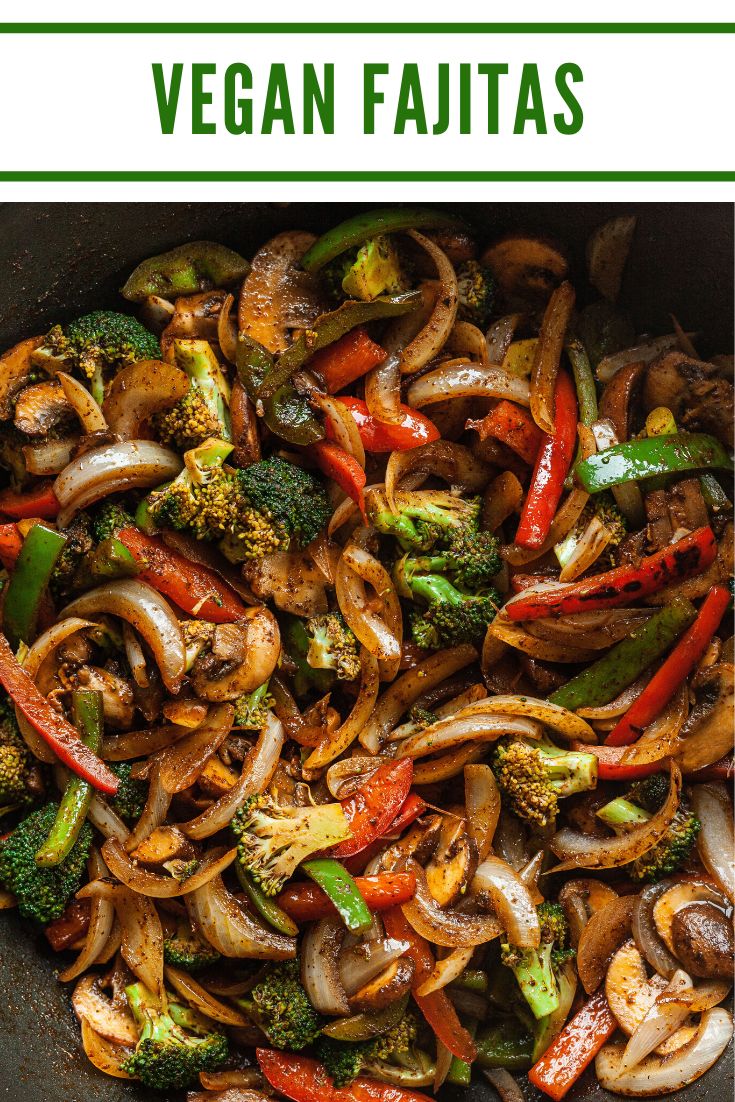
[[[212,652],[194,662],[194,692],[208,701],[236,700],[252,692],[270,678],[280,649],[273,614],[263,605],[248,608],[237,624],[217,626]]]

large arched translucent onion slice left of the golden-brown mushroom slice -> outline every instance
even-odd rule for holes
[[[181,687],[186,650],[179,620],[171,605],[145,582],[122,579],[82,594],[63,609],[61,617],[98,616],[108,613],[127,620],[151,648],[169,692]]]

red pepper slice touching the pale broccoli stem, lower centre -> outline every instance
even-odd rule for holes
[[[413,761],[399,758],[379,766],[364,785],[342,801],[352,838],[329,851],[331,857],[352,857],[390,827],[411,789]]]

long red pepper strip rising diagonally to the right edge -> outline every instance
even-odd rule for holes
[[[725,585],[714,585],[710,590],[692,626],[687,628],[663,665],[610,731],[605,739],[607,746],[635,743],[648,724],[660,715],[704,655],[729,599],[729,590]]]

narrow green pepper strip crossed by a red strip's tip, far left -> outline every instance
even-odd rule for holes
[[[82,742],[98,754],[105,726],[101,692],[97,689],[75,690],[72,693],[72,715]],[[54,825],[35,855],[35,863],[41,868],[53,868],[68,857],[84,827],[94,791],[91,785],[80,777],[69,778]]]

